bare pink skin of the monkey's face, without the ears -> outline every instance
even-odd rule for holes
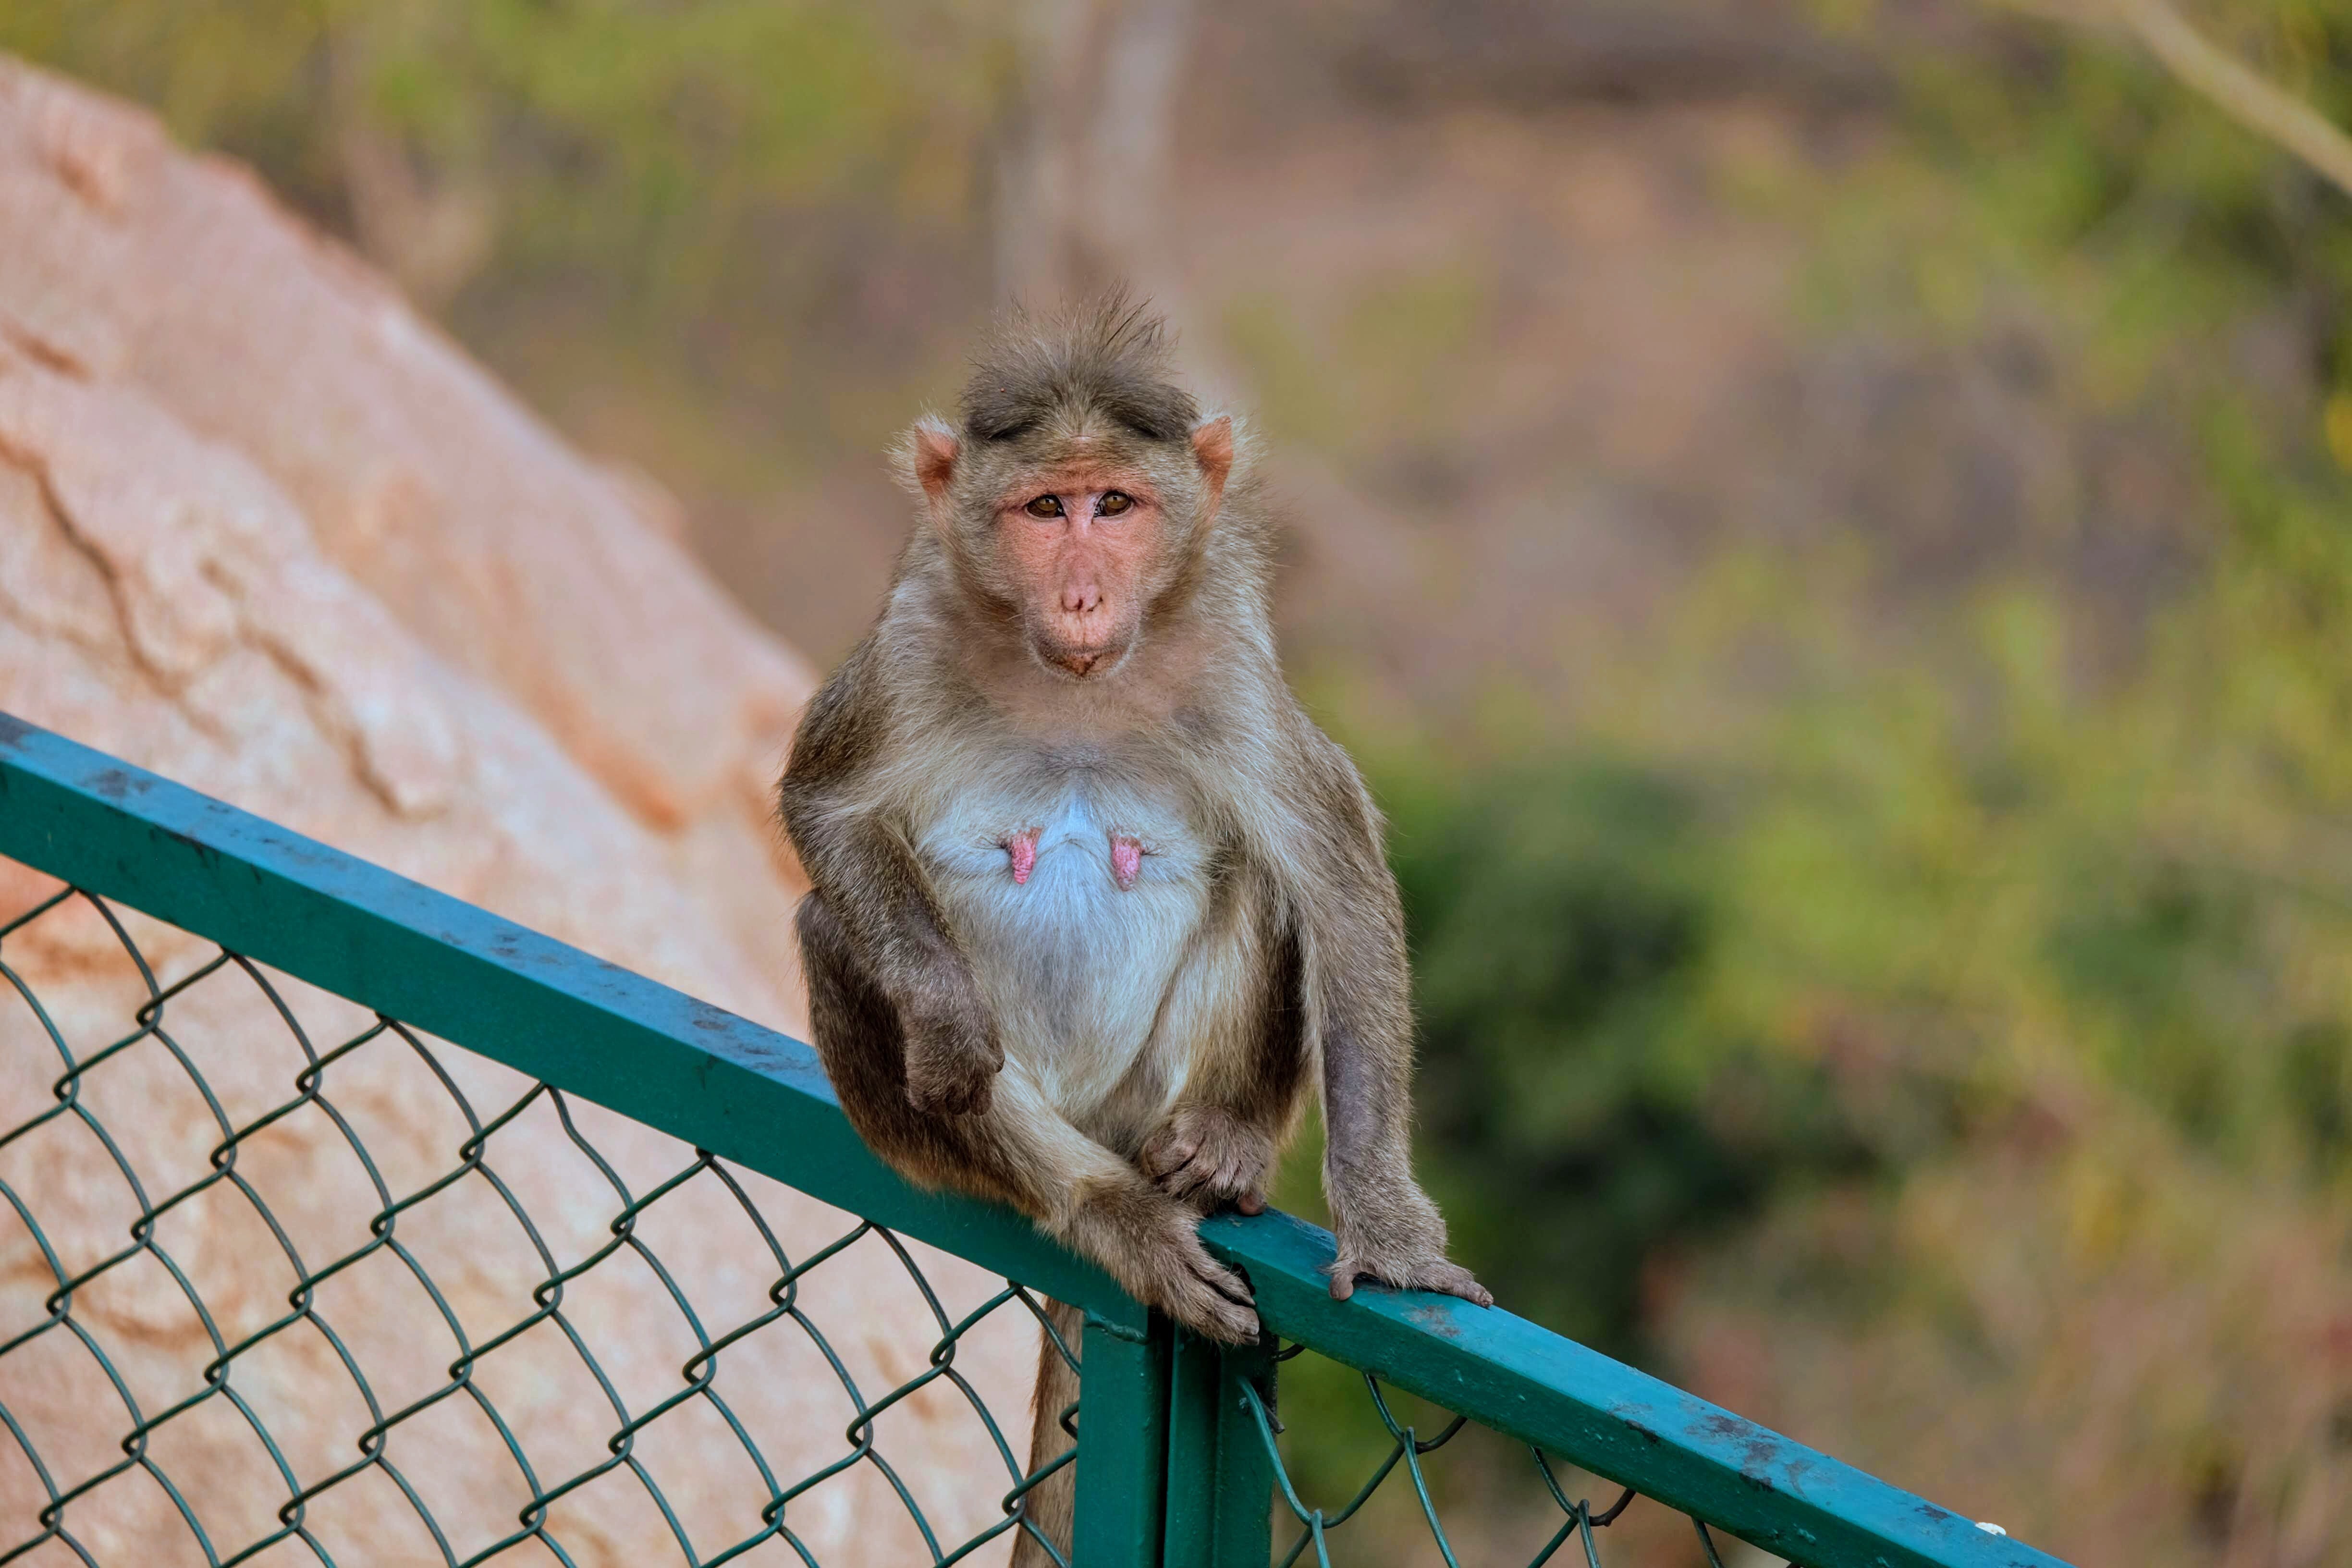
[[[1004,489],[997,548],[1042,661],[1080,679],[1120,663],[1143,621],[1160,531],[1157,491],[1124,465],[1070,463]]]

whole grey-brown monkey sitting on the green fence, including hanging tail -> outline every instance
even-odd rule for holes
[[[1331,1295],[1491,1305],[1414,1180],[1402,903],[1282,677],[1256,442],[1169,362],[1124,294],[1014,313],[955,421],[898,440],[913,529],[779,783],[816,1051],[894,1168],[1235,1345],[1249,1286],[1195,1227],[1265,1208],[1319,1093]],[[1044,1312],[1077,1352],[1080,1314]],[[1033,1467],[1077,1396],[1044,1338]],[[1068,1476],[1028,1497],[1061,1544]],[[1028,1530],[1014,1561],[1047,1561]]]

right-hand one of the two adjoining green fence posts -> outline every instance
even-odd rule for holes
[[[1265,1568],[1275,1467],[1242,1387],[1272,1389],[1272,1342],[1225,1347],[1176,1331],[1164,1568]]]

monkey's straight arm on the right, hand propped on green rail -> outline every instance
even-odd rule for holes
[[[1494,1305],[1446,1260],[1446,1222],[1414,1180],[1414,1018],[1404,907],[1381,853],[1381,820],[1355,766],[1312,738],[1322,860],[1298,877],[1305,1004],[1322,1058],[1324,1197],[1338,1232],[1331,1295],[1359,1276]]]

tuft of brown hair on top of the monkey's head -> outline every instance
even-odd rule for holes
[[[1047,423],[1108,418],[1148,442],[1181,442],[1200,404],[1169,378],[1167,322],[1110,289],[1049,317],[1007,310],[974,355],[964,435],[1011,442]]]

